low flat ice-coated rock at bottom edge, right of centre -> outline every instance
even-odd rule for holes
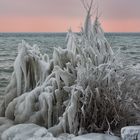
[[[107,134],[90,133],[73,138],[72,140],[120,140],[119,137]]]

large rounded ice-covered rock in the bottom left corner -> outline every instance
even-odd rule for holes
[[[35,124],[19,124],[7,129],[1,136],[2,140],[28,140],[52,138],[47,129]],[[42,140],[42,139],[41,139]]]

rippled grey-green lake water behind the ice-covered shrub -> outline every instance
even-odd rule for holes
[[[131,63],[140,63],[140,33],[107,33],[105,34],[116,52],[120,48]],[[53,47],[65,47],[66,33],[0,33],[0,94],[4,93],[17,56],[18,43],[22,40],[37,44],[43,53],[49,55]]]

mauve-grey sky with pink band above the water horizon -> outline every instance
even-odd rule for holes
[[[140,0],[96,1],[106,32],[140,32]],[[0,32],[79,31],[85,13],[80,0],[0,0]]]

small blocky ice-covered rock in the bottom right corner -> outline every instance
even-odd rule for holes
[[[121,129],[123,140],[140,140],[140,126],[127,126]]]

